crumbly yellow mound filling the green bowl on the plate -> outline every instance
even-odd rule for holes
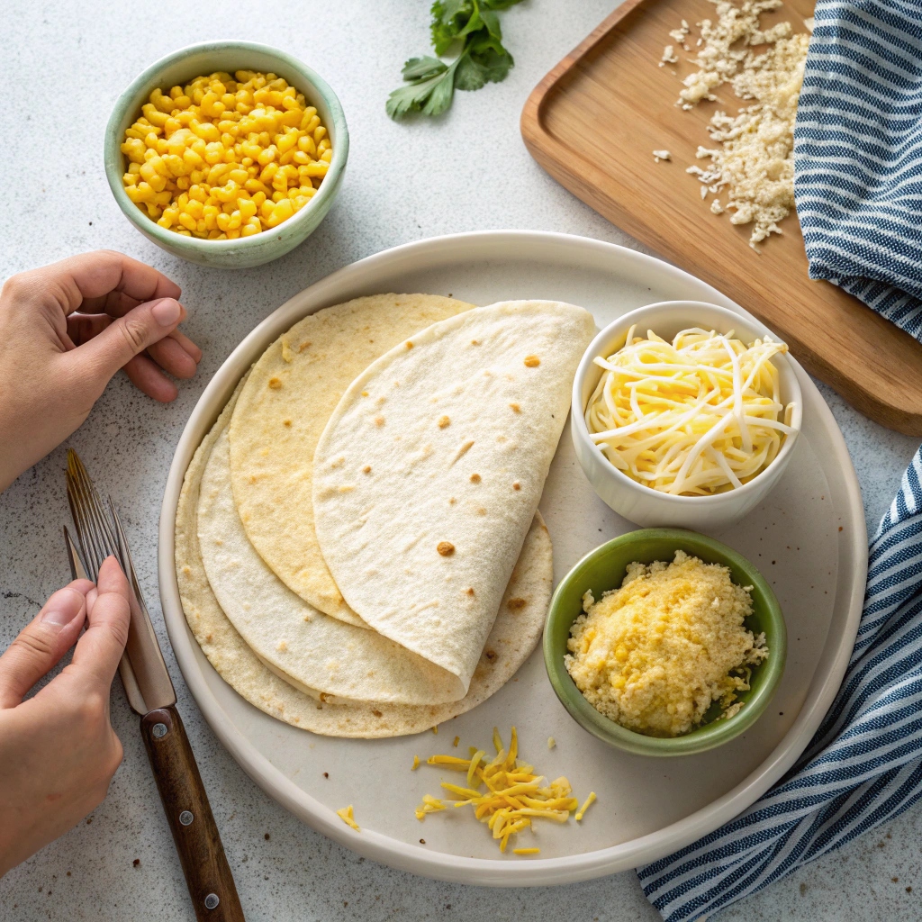
[[[647,736],[680,736],[713,703],[726,717],[769,654],[764,634],[743,623],[751,588],[682,550],[670,563],[629,563],[621,588],[573,621],[564,664],[599,714]]]

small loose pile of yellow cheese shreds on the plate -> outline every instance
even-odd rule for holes
[[[466,774],[465,784],[452,785],[442,782],[442,787],[454,799],[445,803],[440,798],[426,794],[416,809],[416,818],[424,820],[430,813],[452,807],[471,807],[474,816],[484,823],[497,840],[500,851],[506,850],[511,836],[532,828],[538,819],[564,823],[570,814],[579,809],[579,801],[573,797],[573,787],[564,778],[557,778],[548,784],[547,779],[536,774],[533,765],[518,760],[518,734],[512,728],[509,750],[506,751],[500,739],[499,730],[493,727],[493,747],[496,756],[487,761],[485,750],[470,748],[470,758],[460,759],[454,755],[433,755],[427,765],[434,765],[448,771]],[[595,794],[586,798],[587,807]],[[514,855],[537,855],[535,848],[514,848]]]

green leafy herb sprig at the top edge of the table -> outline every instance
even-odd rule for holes
[[[406,86],[387,99],[387,114],[397,119],[408,112],[439,115],[455,97],[455,89],[480,89],[499,83],[514,65],[502,44],[502,10],[521,0],[435,0],[432,4],[432,47],[429,54],[410,58],[401,74]],[[455,60],[439,58],[457,50]]]

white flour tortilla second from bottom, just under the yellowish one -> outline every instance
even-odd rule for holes
[[[246,537],[222,432],[202,474],[198,547],[208,583],[243,639],[304,685],[359,701],[439,704],[467,693],[455,676],[382,634],[330,618],[296,596]]]

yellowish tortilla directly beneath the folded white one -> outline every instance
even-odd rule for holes
[[[352,380],[417,331],[471,304],[425,294],[357,298],[305,317],[254,365],[231,419],[231,477],[247,537],[292,592],[364,626],[313,530],[313,450]]]

